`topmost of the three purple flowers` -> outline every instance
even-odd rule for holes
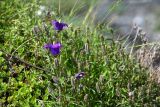
[[[68,25],[66,23],[60,23],[57,20],[52,20],[52,25],[53,25],[54,29],[57,31],[61,31],[61,30],[68,27]]]

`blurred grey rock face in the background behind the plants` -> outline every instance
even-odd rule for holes
[[[97,20],[102,20],[100,18],[108,14],[106,10],[110,11],[111,5],[117,1],[103,0],[97,9]],[[126,34],[136,24],[147,33],[150,41],[160,41],[160,0],[123,0],[119,7],[106,17],[111,20],[111,25]]]

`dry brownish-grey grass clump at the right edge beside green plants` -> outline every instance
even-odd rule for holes
[[[141,45],[135,46],[133,43],[131,51],[134,47],[140,47],[135,52],[136,58],[143,67],[149,69],[150,79],[160,84],[160,46],[158,43],[149,43],[146,33],[141,28],[136,26],[134,30],[137,31],[135,39],[139,37]]]

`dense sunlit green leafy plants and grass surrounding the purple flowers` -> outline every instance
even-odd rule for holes
[[[35,15],[41,3],[0,2],[0,106],[159,106],[159,85],[120,42],[103,36],[103,31],[112,36],[106,27],[79,25],[83,20],[72,23],[73,18],[57,14],[51,19],[71,24],[57,34],[50,18]],[[35,25],[40,29],[37,36],[32,32]],[[57,40],[62,49],[55,57],[43,46]],[[76,80],[80,71],[85,76]]]

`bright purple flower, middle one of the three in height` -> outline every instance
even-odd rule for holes
[[[55,44],[46,44],[44,45],[45,49],[49,49],[52,55],[56,56],[60,53],[60,48],[62,47],[61,43],[57,42]]]

